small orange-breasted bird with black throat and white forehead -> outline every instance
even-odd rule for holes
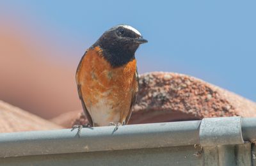
[[[76,83],[88,126],[128,123],[138,93],[134,54],[141,43],[147,40],[138,30],[120,24],[102,34],[84,53]]]

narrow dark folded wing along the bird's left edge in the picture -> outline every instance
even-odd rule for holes
[[[78,95],[79,95],[79,98],[80,98],[82,106],[83,106],[84,114],[87,117],[88,123],[90,124],[90,126],[93,126],[92,117],[90,116],[88,110],[86,109],[86,105],[84,103],[83,95],[82,95],[82,91],[81,91],[81,83],[80,83],[80,81],[78,79],[79,73],[80,73],[80,70],[81,70],[81,64],[83,63],[83,59],[86,56],[86,53],[87,53],[87,51],[84,53],[83,57],[81,58],[78,66],[77,66],[77,70],[76,70],[76,84],[77,84]]]

